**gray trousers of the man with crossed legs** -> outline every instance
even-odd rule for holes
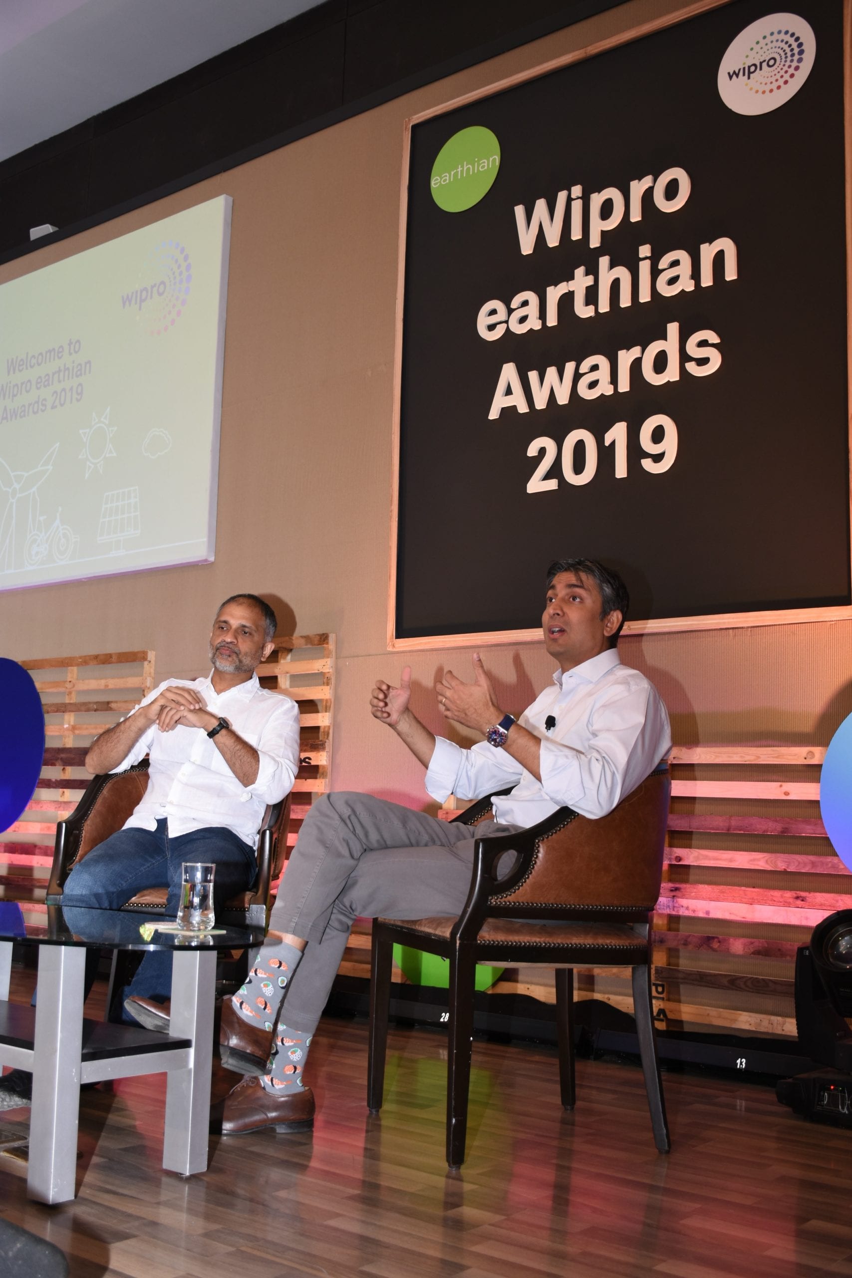
[[[270,918],[272,930],[308,942],[281,1021],[314,1031],[355,919],[457,915],[468,900],[475,838],[520,828],[487,820],[471,837],[470,826],[372,795],[323,795],[303,822]]]

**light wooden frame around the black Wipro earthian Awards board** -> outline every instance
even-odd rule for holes
[[[597,41],[584,49],[575,50],[562,58],[542,63],[526,72],[497,81],[484,88],[465,93],[461,97],[443,102],[441,106],[430,107],[419,115],[410,116],[404,125],[402,148],[402,178],[400,190],[400,233],[399,233],[399,259],[397,259],[397,290],[396,290],[396,325],[395,325],[395,355],[393,355],[393,433],[392,433],[392,481],[391,481],[391,546],[388,561],[388,651],[423,651],[430,648],[470,648],[483,644],[517,644],[531,643],[542,638],[540,627],[530,630],[494,630],[480,634],[443,634],[416,638],[399,638],[396,635],[396,571],[397,571],[397,538],[399,538],[399,484],[400,484],[400,415],[402,392],[402,317],[405,302],[405,249],[406,249],[406,224],[407,224],[407,194],[409,194],[409,160],[411,148],[411,127],[423,120],[432,119],[453,111],[469,102],[475,102],[483,97],[513,88],[526,81],[536,79],[551,72],[570,66],[572,63],[585,61],[604,54],[611,49],[640,40],[643,36],[653,35],[667,27],[674,27],[682,22],[688,22],[699,14],[713,9],[720,9],[732,0],[696,0],[673,14],[645,22],[612,36],[607,40]],[[852,313],[849,299],[852,299],[852,0],[843,0],[843,100],[844,100],[844,141],[846,141],[846,248],[847,248],[847,368],[848,368],[848,395],[852,405]],[[852,459],[852,417],[849,419],[849,455]],[[852,478],[852,475],[851,475]],[[852,483],[851,492],[851,520],[852,520]],[[851,565],[852,570],[852,565]],[[623,634],[660,634],[680,630],[726,630],[745,626],[766,625],[793,625],[803,621],[847,621],[852,620],[852,604],[838,607],[814,608],[778,608],[765,612],[727,612],[694,617],[662,617],[646,621],[627,621]]]

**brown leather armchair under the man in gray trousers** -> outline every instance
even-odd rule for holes
[[[669,1149],[668,1123],[654,1044],[649,921],[663,872],[671,782],[657,768],[605,817],[590,820],[559,808],[515,835],[480,838],[465,907],[457,919],[376,919],[372,943],[368,1107],[382,1104],[393,944],[450,960],[447,1163],[464,1162],[468,1125],[474,969],[547,964],[556,967],[557,1035],[562,1105],[575,1104],[574,967],[628,966],[634,1015],[654,1141]],[[456,820],[475,824],[491,799]],[[505,852],[517,860],[497,879]]]

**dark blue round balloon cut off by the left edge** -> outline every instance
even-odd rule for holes
[[[9,829],[33,796],[45,758],[45,712],[32,675],[0,657],[0,831]]]

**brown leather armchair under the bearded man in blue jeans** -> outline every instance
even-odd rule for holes
[[[63,887],[74,865],[105,838],[121,829],[148,786],[148,760],[125,772],[95,777],[70,817],[56,826],[54,864],[47,886],[47,904],[63,904]],[[222,921],[266,928],[271,907],[272,884],[284,869],[287,850],[290,795],[267,806],[259,829],[257,875],[247,892],[240,892],[225,905]],[[166,888],[146,888],[128,901],[124,910],[165,910]]]

